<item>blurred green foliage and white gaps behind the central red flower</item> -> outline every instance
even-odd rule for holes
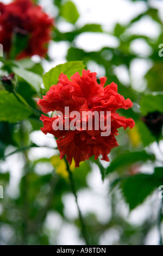
[[[41,4],[48,5],[45,2]],[[154,1],[155,5],[152,1],[128,2],[143,2],[144,11],[140,4],[141,14],[108,32],[100,23],[79,26],[75,2],[55,0],[55,27],[46,59],[1,58],[1,77],[15,74],[14,92],[3,79],[0,91],[1,245],[84,244],[66,164],[59,159],[55,139],[41,134],[41,111],[36,105],[46,93],[42,75],[54,63],[64,63],[55,59],[55,46],[62,43],[67,47],[65,62],[83,61],[87,69],[97,71],[98,78],[106,76],[107,84],[117,83],[118,92],[134,102],[133,108],[119,111],[136,125],[125,132],[120,129],[120,146],[111,151],[110,163],[90,159],[79,168],[71,165],[89,244],[162,243],[162,200],[158,197],[163,185],[161,1]],[[149,33],[135,32],[134,26],[145,19],[156,26],[156,36],[150,35],[150,29]],[[86,50],[79,46],[79,36],[88,33],[100,39],[109,35],[115,45]],[[14,48],[21,49],[21,43],[15,40]]]

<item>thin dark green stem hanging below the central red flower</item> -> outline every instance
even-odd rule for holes
[[[67,172],[69,174],[71,190],[72,190],[72,193],[74,194],[74,197],[76,199],[76,204],[77,204],[78,213],[79,213],[80,225],[81,225],[81,228],[82,228],[82,234],[83,234],[86,245],[89,245],[89,242],[87,240],[87,235],[86,235],[85,223],[84,223],[84,220],[83,220],[82,212],[81,212],[81,210],[79,208],[79,204],[78,204],[78,197],[77,197],[77,193],[76,193],[76,186],[75,186],[75,183],[74,183],[74,180],[73,180],[73,175],[72,175],[72,172],[70,170],[69,163],[66,160],[66,157],[64,157],[64,160],[65,160],[65,163],[66,163]]]

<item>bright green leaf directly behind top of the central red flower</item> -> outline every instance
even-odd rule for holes
[[[66,62],[60,64],[49,70],[43,76],[43,83],[46,90],[49,90],[51,86],[58,83],[58,78],[61,73],[67,75],[68,79],[77,71],[82,75],[82,70],[85,68],[83,62]]]

